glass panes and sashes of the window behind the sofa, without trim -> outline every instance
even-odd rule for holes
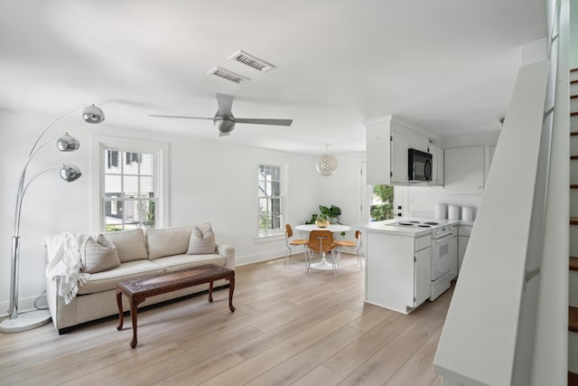
[[[154,154],[104,148],[105,231],[156,227]]]

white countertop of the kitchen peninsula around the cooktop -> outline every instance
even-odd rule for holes
[[[420,227],[404,227],[398,225],[391,225],[399,221],[435,221],[439,222],[439,225],[433,225],[431,228],[420,228]],[[423,218],[423,217],[397,217],[392,220],[386,221],[372,221],[362,224],[352,225],[351,228],[360,231],[371,231],[380,232],[388,234],[396,234],[399,236],[409,236],[409,237],[422,237],[426,236],[436,228],[440,228],[447,225],[473,225],[473,221],[461,221],[461,220],[448,220],[448,219],[433,219],[433,218]]]

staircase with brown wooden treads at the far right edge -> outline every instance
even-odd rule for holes
[[[570,71],[568,385],[578,385],[578,69]]]

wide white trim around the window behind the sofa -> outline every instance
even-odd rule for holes
[[[102,231],[102,201],[100,190],[103,186],[103,154],[105,147],[117,147],[135,153],[154,153],[154,187],[158,193],[156,202],[156,226],[168,227],[169,221],[169,144],[142,139],[112,137],[100,134],[90,135],[90,228],[92,231]]]

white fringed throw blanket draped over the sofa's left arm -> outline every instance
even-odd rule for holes
[[[46,237],[48,267],[46,278],[58,285],[58,295],[68,305],[79,292],[79,287],[86,283],[89,274],[81,272],[79,245],[88,235],[70,232]]]

